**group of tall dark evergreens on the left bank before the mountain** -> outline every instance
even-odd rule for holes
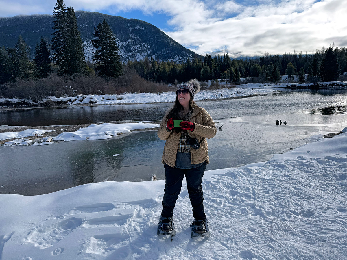
[[[33,59],[30,58],[30,48],[21,35],[14,48],[0,48],[0,84],[18,79],[44,78],[51,72],[59,76],[90,76],[95,72],[104,77],[123,75],[116,37],[105,20],[94,28],[94,58],[93,63],[87,64],[74,9],[66,8],[63,0],[57,0],[53,19],[52,40],[45,42],[41,38],[36,43]]]

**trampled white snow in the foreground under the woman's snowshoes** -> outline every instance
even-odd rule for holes
[[[346,142],[342,133],[268,162],[207,171],[209,239],[190,237],[186,185],[172,242],[156,236],[164,181],[0,194],[0,259],[347,259]]]

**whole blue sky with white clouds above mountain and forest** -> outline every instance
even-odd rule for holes
[[[52,14],[55,0],[0,0],[0,16]],[[147,21],[198,54],[231,57],[347,47],[346,0],[65,0]],[[116,33],[116,32],[115,32]]]

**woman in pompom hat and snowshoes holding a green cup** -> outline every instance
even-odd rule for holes
[[[201,183],[206,165],[209,163],[206,138],[214,137],[217,128],[209,113],[193,101],[199,90],[200,83],[196,79],[178,85],[175,105],[166,113],[158,130],[158,137],[166,140],[162,156],[165,168],[165,193],[158,226],[159,235],[175,235],[172,223],[173,210],[181,192],[184,176],[193,206],[194,232],[197,234],[207,232]],[[183,120],[180,128],[174,127],[174,119]],[[187,143],[189,140],[193,140],[194,143],[194,139],[195,148],[200,146],[198,149]]]

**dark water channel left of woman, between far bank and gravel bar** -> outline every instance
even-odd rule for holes
[[[0,111],[0,125],[68,125],[108,121],[158,121],[172,103],[66,106]]]

